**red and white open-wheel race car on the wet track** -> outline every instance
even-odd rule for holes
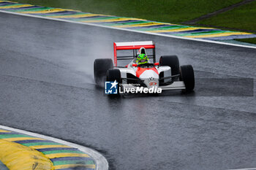
[[[146,52],[151,50],[151,54]],[[118,50],[132,50],[133,55],[118,56]],[[127,51],[125,51],[127,53]],[[149,61],[136,63],[138,55],[145,54]],[[110,58],[94,61],[94,80],[97,85],[103,82],[118,82],[122,88],[157,87],[162,90],[184,90],[191,92],[195,87],[194,70],[191,65],[179,66],[176,55],[163,55],[156,62],[155,44],[149,42],[114,42],[114,66]],[[130,60],[126,66],[118,62]],[[153,61],[153,62],[150,62]],[[125,64],[124,64],[125,65]]]

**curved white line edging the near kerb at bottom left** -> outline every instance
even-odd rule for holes
[[[108,161],[106,160],[106,158],[103,155],[101,155],[99,152],[97,152],[96,150],[92,150],[89,147],[83,147],[79,144],[66,142],[64,140],[56,139],[56,138],[53,138],[53,137],[50,137],[50,136],[45,136],[45,135],[42,135],[42,134],[36,134],[36,133],[33,133],[33,132],[29,132],[29,131],[23,131],[23,130],[20,130],[20,129],[17,129],[17,128],[10,128],[10,127],[4,126],[4,125],[0,125],[0,128],[3,128],[4,130],[9,130],[9,131],[15,131],[15,132],[18,132],[18,133],[21,133],[21,134],[27,134],[29,136],[35,136],[35,137],[39,137],[39,138],[42,138],[42,139],[47,139],[47,140],[57,142],[57,143],[60,143],[60,144],[65,144],[69,147],[78,148],[78,150],[86,152],[86,154],[90,155],[91,158],[93,158],[94,161],[96,161],[96,169],[97,170],[108,170]]]

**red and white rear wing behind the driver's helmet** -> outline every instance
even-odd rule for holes
[[[148,58],[152,58],[153,62],[156,63],[156,46],[154,42],[114,42],[114,64],[117,66],[118,60],[132,60],[137,55],[137,50],[140,47],[152,49],[152,54],[148,55]],[[133,50],[133,55],[117,56],[117,50]]]

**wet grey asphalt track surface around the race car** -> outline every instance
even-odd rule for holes
[[[4,13],[0,37],[1,125],[94,148],[110,169],[256,167],[255,90],[197,82],[189,96],[108,98],[93,77],[113,42],[153,40],[197,78],[255,79],[256,50]]]

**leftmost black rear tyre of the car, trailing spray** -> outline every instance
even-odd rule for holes
[[[97,85],[104,86],[108,69],[113,69],[113,61],[111,58],[99,58],[94,61],[94,80]]]

